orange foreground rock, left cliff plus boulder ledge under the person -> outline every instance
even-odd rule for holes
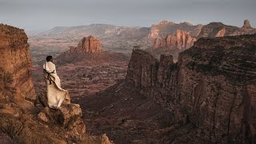
[[[111,143],[86,134],[79,105],[67,100],[50,110],[36,101],[24,30],[1,24],[0,50],[0,133],[18,143]]]

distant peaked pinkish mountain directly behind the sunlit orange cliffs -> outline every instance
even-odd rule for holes
[[[148,38],[164,38],[167,34],[175,34],[177,30],[187,31],[191,36],[197,37],[202,25],[193,26],[188,22],[176,24],[174,22],[162,21],[150,28]]]

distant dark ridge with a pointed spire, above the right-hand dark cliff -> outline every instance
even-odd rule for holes
[[[248,20],[244,22],[244,26],[242,26],[242,28],[239,28],[237,26],[227,26],[224,25],[222,22],[210,22],[210,24],[202,26],[202,30],[200,34],[198,34],[198,38],[223,37],[255,33],[256,29],[250,26],[250,22]]]

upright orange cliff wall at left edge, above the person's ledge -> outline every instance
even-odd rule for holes
[[[0,24],[0,90],[14,90],[8,99],[24,109],[36,100],[27,39],[24,30]]]

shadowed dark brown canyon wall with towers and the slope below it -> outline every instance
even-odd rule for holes
[[[79,100],[88,130],[118,143],[254,143],[255,43],[199,38],[177,63],[133,50],[123,81]]]

